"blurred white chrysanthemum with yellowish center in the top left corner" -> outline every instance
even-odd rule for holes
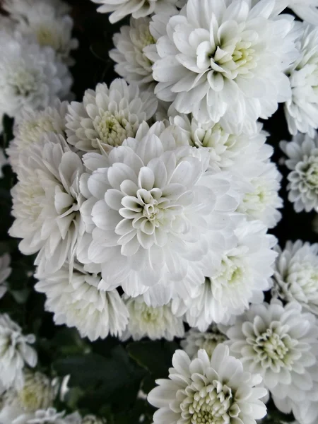
[[[61,61],[73,64],[69,54],[78,47],[78,41],[71,37],[71,16],[59,16],[60,12],[56,10],[61,3],[33,0],[30,7],[21,6],[20,3],[20,0],[4,1],[4,9],[17,21],[17,30],[25,35],[35,35],[40,46],[52,47]]]

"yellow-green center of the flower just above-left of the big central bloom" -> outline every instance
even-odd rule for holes
[[[94,122],[95,130],[101,141],[113,147],[122,146],[128,137],[133,137],[135,131],[127,119],[107,111]]]

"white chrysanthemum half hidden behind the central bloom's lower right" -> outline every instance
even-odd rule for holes
[[[206,331],[213,322],[225,324],[242,314],[249,303],[262,302],[263,291],[270,288],[269,277],[277,255],[271,249],[276,238],[266,230],[259,221],[239,225],[235,231],[238,241],[223,254],[219,269],[199,286],[196,298],[174,300],[172,311],[186,312],[190,326]]]

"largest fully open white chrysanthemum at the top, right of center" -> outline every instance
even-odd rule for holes
[[[271,0],[254,7],[249,0],[189,0],[157,41],[158,98],[228,132],[270,117],[290,98],[284,71],[297,57],[293,18],[278,16],[282,8]]]

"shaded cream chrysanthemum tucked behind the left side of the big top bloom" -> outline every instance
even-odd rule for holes
[[[153,62],[145,54],[145,48],[155,44],[150,22],[150,18],[131,18],[130,25],[122,26],[120,33],[114,34],[116,48],[110,50],[110,58],[116,62],[115,71],[128,83],[145,88],[155,86]]]

